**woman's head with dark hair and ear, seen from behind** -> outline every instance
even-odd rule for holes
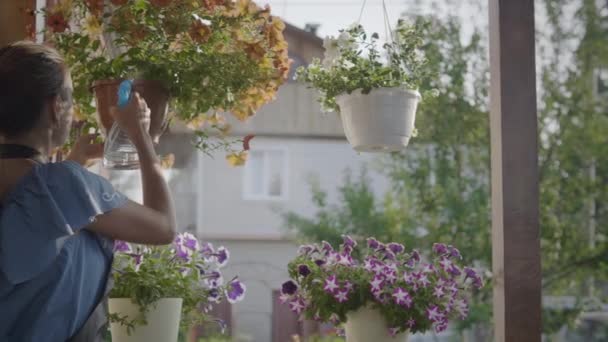
[[[0,49],[0,136],[41,137],[55,146],[72,122],[72,80],[59,53],[21,41]]]

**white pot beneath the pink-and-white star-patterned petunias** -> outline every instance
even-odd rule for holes
[[[346,315],[346,342],[406,342],[408,333],[391,336],[380,311],[368,307]]]

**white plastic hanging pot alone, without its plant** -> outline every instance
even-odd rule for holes
[[[359,152],[394,152],[405,149],[416,119],[420,93],[401,88],[356,90],[336,102],[346,138]]]

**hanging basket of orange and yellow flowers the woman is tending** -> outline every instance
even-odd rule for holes
[[[240,153],[218,113],[247,120],[289,71],[285,24],[252,0],[58,0],[42,12],[47,41],[72,71],[77,120],[103,131],[118,80],[146,80],[134,86],[152,110],[156,141],[169,111],[204,152]],[[212,136],[223,143],[207,143]]]

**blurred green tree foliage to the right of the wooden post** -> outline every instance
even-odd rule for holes
[[[551,49],[539,59],[543,287],[594,295],[594,282],[608,280],[608,112],[595,93],[595,72],[608,67],[608,18],[594,1],[544,5]],[[571,25],[581,34],[564,25],[567,7],[576,9]]]

